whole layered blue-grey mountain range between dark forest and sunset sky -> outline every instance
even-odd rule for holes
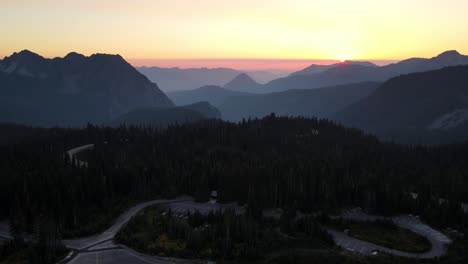
[[[236,73],[224,86],[170,92],[175,107],[119,55],[46,59],[25,50],[0,60],[0,122],[167,126],[276,113],[329,118],[396,141],[451,142],[468,132],[468,66],[455,65],[468,65],[468,56],[311,65],[266,85]]]

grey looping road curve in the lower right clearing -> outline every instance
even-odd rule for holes
[[[411,215],[387,218],[383,216],[368,215],[360,210],[355,209],[351,211],[345,211],[341,217],[354,221],[375,221],[384,219],[391,220],[402,228],[409,229],[421,236],[426,237],[432,244],[432,248],[428,252],[410,253],[359,240],[336,230],[328,230],[328,232],[332,235],[333,240],[339,247],[358,254],[371,255],[374,251],[377,250],[400,257],[431,259],[445,255],[447,252],[447,246],[452,242],[446,235],[422,223],[419,218]]]

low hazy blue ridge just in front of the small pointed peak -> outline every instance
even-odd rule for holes
[[[228,97],[248,95],[248,93],[234,92],[220,86],[208,85],[195,90],[170,92],[167,93],[167,95],[176,105],[187,105],[206,101],[214,106],[218,106]]]

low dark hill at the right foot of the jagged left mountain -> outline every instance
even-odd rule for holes
[[[111,126],[135,125],[167,127],[203,119],[219,118],[219,110],[208,103],[196,103],[178,107],[152,107],[132,110],[113,120]]]

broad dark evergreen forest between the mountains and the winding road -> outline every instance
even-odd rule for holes
[[[0,219],[9,219],[15,234],[38,226],[60,237],[91,234],[132,203],[179,194],[205,201],[210,190],[250,211],[360,206],[468,226],[460,206],[468,201],[468,144],[381,143],[327,120],[274,115],[165,129],[0,130],[11,139],[0,145]],[[78,168],[65,152],[90,143],[88,166]]]

